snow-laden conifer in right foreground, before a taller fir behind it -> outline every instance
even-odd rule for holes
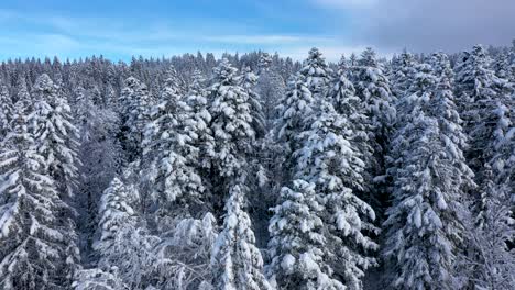
[[[423,96],[423,93],[417,93]],[[394,172],[392,207],[386,211],[384,255],[395,289],[454,289],[453,263],[463,238],[464,176],[446,144],[438,121],[420,109],[398,131],[404,144]]]

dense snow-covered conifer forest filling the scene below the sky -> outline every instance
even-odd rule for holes
[[[0,67],[0,288],[514,289],[515,41]]]

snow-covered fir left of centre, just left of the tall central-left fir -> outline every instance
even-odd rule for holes
[[[173,209],[193,214],[189,208],[202,203],[205,191],[195,165],[201,157],[196,146],[197,132],[205,130],[206,124],[197,123],[186,100],[178,94],[175,81],[172,77],[166,79],[162,101],[150,113],[143,140],[144,163],[149,163],[145,178],[151,196],[166,215]]]

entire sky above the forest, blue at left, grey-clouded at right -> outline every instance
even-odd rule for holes
[[[460,11],[460,4],[471,7],[471,16],[441,26],[442,18],[431,15],[452,11],[443,0],[2,0],[0,59],[102,54],[128,60],[259,48],[302,59],[311,46],[337,59],[369,45],[382,54],[403,47],[461,49],[475,42],[509,42],[509,30],[495,37],[485,31],[497,22],[514,26],[506,23],[514,18],[502,11],[514,11],[509,2],[515,1],[495,1],[503,9],[481,18],[473,14],[487,1],[454,0]],[[481,24],[478,35],[470,33],[473,22]],[[463,40],[456,41],[460,35]]]

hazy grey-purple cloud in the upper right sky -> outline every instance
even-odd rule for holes
[[[383,49],[457,52],[515,37],[514,0],[314,0],[349,12],[353,41]],[[354,5],[353,5],[354,4]]]

